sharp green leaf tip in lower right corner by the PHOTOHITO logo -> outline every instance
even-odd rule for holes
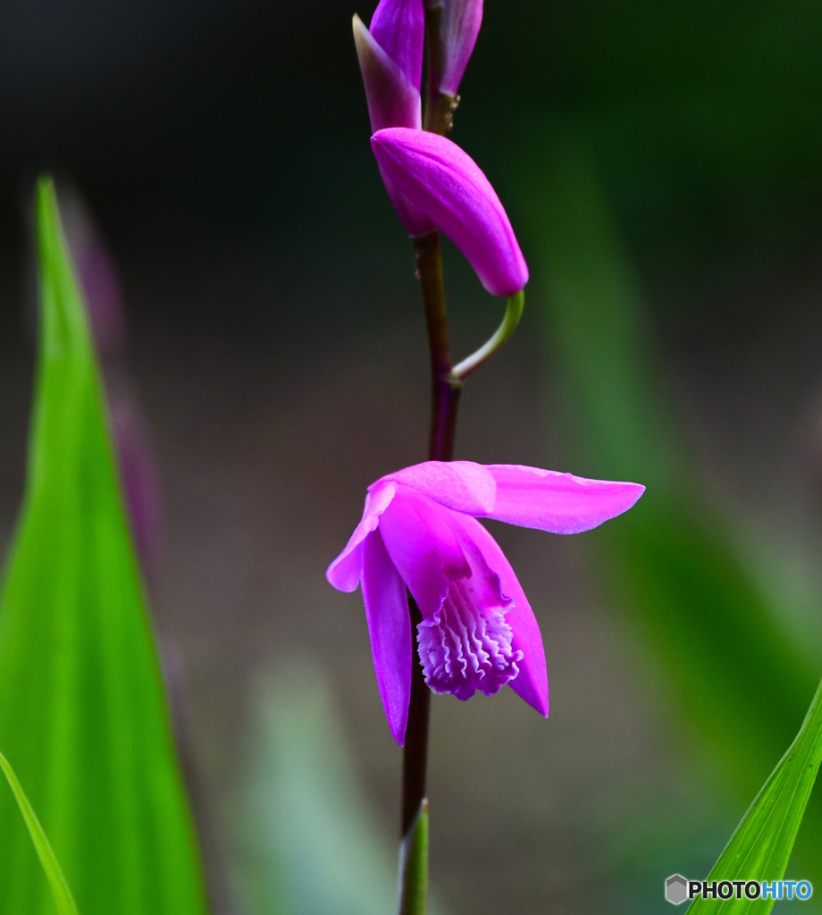
[[[805,723],[711,868],[712,880],[781,880],[822,760],[822,684]],[[768,915],[773,899],[695,899],[690,915]]]

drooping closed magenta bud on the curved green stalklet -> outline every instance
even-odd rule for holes
[[[404,127],[377,131],[371,145],[386,186],[449,236],[492,296],[523,289],[528,266],[511,222],[467,153],[444,136]]]

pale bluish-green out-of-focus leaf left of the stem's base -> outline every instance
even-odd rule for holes
[[[237,875],[251,915],[396,910],[399,843],[373,815],[340,719],[306,658],[255,690]],[[428,911],[443,909],[433,899]]]

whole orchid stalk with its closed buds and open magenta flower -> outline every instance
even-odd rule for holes
[[[427,462],[369,487],[362,521],[327,573],[340,590],[362,588],[385,715],[404,748],[400,915],[425,912],[431,693],[468,699],[510,685],[540,714],[548,712],[534,613],[502,550],[476,519],[579,533],[627,511],[644,490],[634,483],[452,460],[463,382],[514,333],[528,281],[491,182],[445,136],[481,17],[482,0],[380,0],[368,28],[354,16],[373,154],[416,251],[432,379]],[[440,231],[485,289],[506,300],[491,339],[456,365]]]

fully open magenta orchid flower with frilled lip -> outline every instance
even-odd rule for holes
[[[417,653],[434,693],[468,699],[510,684],[547,716],[534,613],[503,551],[475,519],[579,533],[627,511],[643,492],[637,483],[470,461],[428,461],[368,488],[362,521],[326,576],[341,591],[362,586],[377,684],[400,746],[412,673],[406,588],[422,615]]]

